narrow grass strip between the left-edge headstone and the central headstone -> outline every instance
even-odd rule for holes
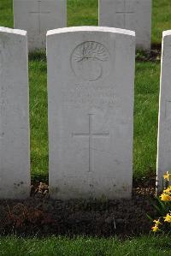
[[[45,54],[30,55],[31,171],[34,180],[48,176],[47,64]]]

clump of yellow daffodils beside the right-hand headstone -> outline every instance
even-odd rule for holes
[[[171,174],[168,172],[163,177],[167,182],[171,181]],[[155,233],[162,230],[164,231],[165,229],[170,230],[171,228],[171,186],[163,190],[158,201],[161,205],[162,217],[153,221],[155,224],[151,229]]]

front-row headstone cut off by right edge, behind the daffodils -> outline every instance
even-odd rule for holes
[[[158,118],[157,192],[162,191],[163,175],[171,173],[171,30],[162,33],[160,105]]]

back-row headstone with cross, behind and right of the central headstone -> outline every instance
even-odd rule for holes
[[[99,26],[133,30],[137,48],[150,50],[151,0],[99,0]]]

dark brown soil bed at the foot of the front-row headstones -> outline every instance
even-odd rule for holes
[[[150,232],[146,214],[155,217],[155,178],[133,183],[133,198],[52,200],[44,183],[32,186],[27,200],[0,200],[0,234],[141,235]]]

